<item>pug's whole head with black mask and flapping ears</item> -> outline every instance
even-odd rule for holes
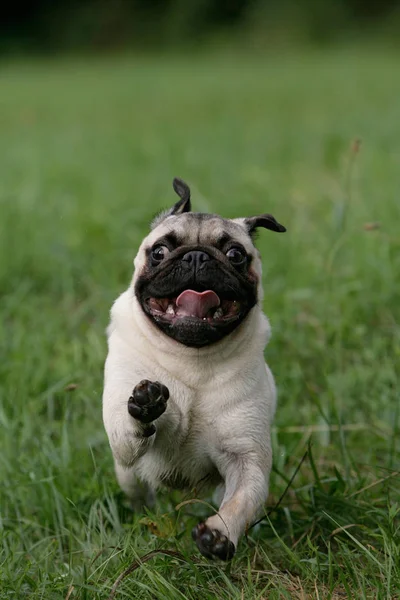
[[[190,212],[190,190],[174,179],[180,200],[158,217],[139,248],[133,280],[142,311],[185,346],[229,335],[261,294],[257,227],[283,232],[271,215],[228,220]]]

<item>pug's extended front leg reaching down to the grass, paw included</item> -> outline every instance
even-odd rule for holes
[[[260,514],[268,496],[271,452],[260,456],[226,453],[218,469],[225,480],[225,494],[218,514],[192,531],[200,552],[207,558],[229,560],[239,537]]]

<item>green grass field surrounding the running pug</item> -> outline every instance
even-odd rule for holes
[[[383,51],[3,65],[0,597],[400,597],[400,78]],[[354,140],[362,140],[359,151]],[[353,144],[353,146],[352,146]],[[271,212],[268,510],[229,565],[162,493],[133,516],[101,419],[105,327],[154,213]],[[374,224],[374,227],[366,224]],[[71,386],[75,384],[75,386]],[[71,389],[74,388],[74,389]]]

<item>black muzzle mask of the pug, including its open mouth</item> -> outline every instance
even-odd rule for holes
[[[195,348],[214,344],[236,329],[257,302],[244,250],[236,263],[213,246],[170,251],[159,243],[148,251],[135,294],[148,318],[169,337]]]

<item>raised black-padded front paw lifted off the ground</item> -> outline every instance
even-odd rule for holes
[[[165,412],[168,398],[169,391],[165,385],[143,379],[128,400],[129,414],[141,423],[151,423]]]

